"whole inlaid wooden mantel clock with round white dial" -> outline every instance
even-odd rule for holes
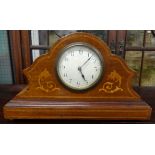
[[[24,70],[28,85],[4,107],[7,119],[148,120],[135,72],[88,33],[61,38]]]

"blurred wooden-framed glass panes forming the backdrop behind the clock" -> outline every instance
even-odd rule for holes
[[[137,72],[133,86],[155,86],[155,31],[153,30],[0,30],[0,85],[24,84],[23,69],[45,54],[61,37],[74,32],[92,33],[111,52]]]

